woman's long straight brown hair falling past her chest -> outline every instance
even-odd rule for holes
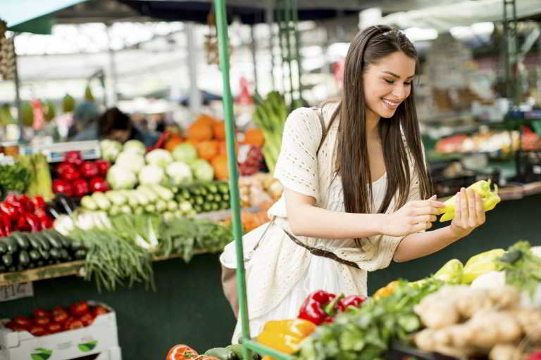
[[[363,92],[363,73],[369,64],[395,51],[417,60],[417,52],[411,41],[399,30],[388,26],[371,26],[353,39],[347,52],[344,68],[344,91],[331,124],[340,116],[337,134],[335,167],[342,177],[345,210],[347,212],[371,212],[373,202],[371,172],[366,143],[366,103]],[[385,212],[398,191],[395,210],[402,207],[409,196],[411,175],[409,156],[415,163],[421,198],[430,196],[430,180],[425,168],[421,135],[417,120],[415,101],[411,93],[389,119],[378,124],[387,170],[387,191],[378,212]],[[401,130],[402,128],[402,130]],[[402,131],[406,146],[402,140]]]

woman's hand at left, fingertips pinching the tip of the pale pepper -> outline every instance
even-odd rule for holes
[[[399,210],[387,214],[385,224],[382,226],[383,235],[406,236],[411,233],[430,229],[436,215],[445,207],[443,203],[435,200],[436,195],[428,200],[414,200],[406,203]]]

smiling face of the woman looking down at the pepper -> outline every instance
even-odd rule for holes
[[[364,97],[368,111],[378,117],[394,115],[411,92],[415,60],[402,51],[380,58],[363,74]]]

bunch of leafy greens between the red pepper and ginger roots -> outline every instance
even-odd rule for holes
[[[299,360],[386,359],[391,340],[409,342],[421,328],[413,307],[437,291],[443,281],[427,279],[416,287],[402,282],[393,295],[368,300],[359,309],[336,317],[335,323],[316,328],[297,353]]]

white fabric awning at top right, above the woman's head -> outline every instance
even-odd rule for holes
[[[420,10],[392,13],[381,23],[402,29],[421,27],[446,32],[452,27],[503,20],[503,0],[461,1],[456,4],[430,6]],[[516,0],[517,18],[528,18],[541,13],[540,0]],[[511,14],[508,15],[509,17]]]

